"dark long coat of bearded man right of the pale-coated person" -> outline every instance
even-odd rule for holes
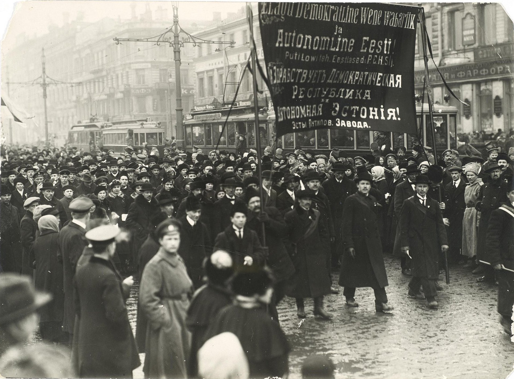
[[[508,185],[501,179],[489,181],[480,189],[476,210],[480,211],[478,230],[478,244],[476,246],[476,258],[487,261],[486,234],[489,218],[494,209],[500,207],[501,203],[507,203]]]

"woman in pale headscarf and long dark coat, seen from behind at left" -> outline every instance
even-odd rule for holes
[[[51,342],[64,342],[61,328],[64,312],[63,268],[57,260],[59,222],[51,214],[38,220],[39,238],[34,242],[34,286],[49,292],[53,299],[39,310],[41,337]]]

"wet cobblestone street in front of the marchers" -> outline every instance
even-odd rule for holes
[[[475,283],[462,267],[450,270],[450,285],[439,293],[439,309],[428,309],[426,300],[407,297],[409,278],[399,262],[386,257],[389,275],[390,314],[377,314],[373,290],[357,289],[358,308],[348,308],[344,297],[325,297],[334,314],[323,321],[312,314],[299,327],[295,300],[284,299],[279,307],[281,326],[289,338],[290,378],[301,377],[303,360],[310,354],[326,354],[336,364],[336,378],[504,378],[512,371],[514,344],[503,332],[496,311],[496,287]],[[334,273],[337,282],[337,273]],[[135,297],[129,308],[135,331]],[[141,354],[143,359],[143,354]],[[142,377],[141,368],[135,377]]]

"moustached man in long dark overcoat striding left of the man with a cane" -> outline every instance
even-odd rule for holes
[[[372,287],[376,311],[391,311],[393,307],[387,303],[385,287],[389,283],[377,215],[382,207],[370,195],[373,178],[368,171],[359,173],[355,182],[357,193],[348,196],[343,207],[344,252],[339,285],[344,287],[343,295],[348,306],[358,306],[355,301],[356,287]]]

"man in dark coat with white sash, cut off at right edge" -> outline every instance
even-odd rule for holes
[[[514,304],[514,186],[507,193],[508,201],[491,212],[487,228],[488,260],[496,270],[498,280],[498,313],[505,331],[512,335],[512,305]]]

